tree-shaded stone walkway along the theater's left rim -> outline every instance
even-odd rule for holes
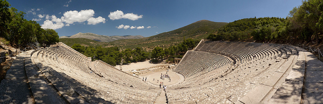
[[[32,50],[20,53],[0,83],[0,103],[65,103],[32,65]]]

